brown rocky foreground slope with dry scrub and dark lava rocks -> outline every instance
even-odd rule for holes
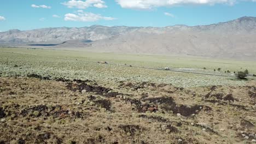
[[[0,77],[0,121],[0,143],[255,143],[256,82]]]

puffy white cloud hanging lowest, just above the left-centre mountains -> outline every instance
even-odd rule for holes
[[[94,22],[98,20],[115,20],[114,17],[101,16],[100,14],[86,13],[83,10],[78,10],[77,14],[66,14],[65,21],[83,21]]]

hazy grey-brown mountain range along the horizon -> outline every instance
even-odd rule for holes
[[[0,45],[256,60],[256,17],[206,26],[12,29]]]

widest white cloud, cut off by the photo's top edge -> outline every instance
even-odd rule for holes
[[[183,4],[234,4],[236,0],[115,0],[122,8],[152,9]],[[256,1],[256,0],[252,0]]]

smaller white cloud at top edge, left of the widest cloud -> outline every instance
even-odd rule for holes
[[[62,4],[66,5],[68,8],[78,8],[78,9],[86,9],[88,7],[107,8],[107,5],[102,0],[86,0],[86,1],[71,0],[68,2],[64,2]]]

